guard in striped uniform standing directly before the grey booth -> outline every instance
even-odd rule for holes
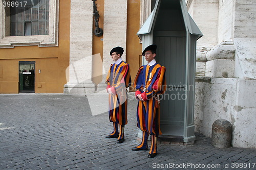
[[[132,151],[147,150],[147,138],[151,135],[152,143],[148,158],[157,155],[157,137],[160,130],[159,94],[166,89],[165,67],[156,62],[157,45],[147,46],[142,52],[147,65],[141,66],[134,80],[135,96],[138,100],[137,126],[142,130],[142,141]]]

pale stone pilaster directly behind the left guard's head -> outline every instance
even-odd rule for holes
[[[110,56],[113,47],[124,48],[122,59],[126,59],[127,0],[105,0],[104,2],[104,39],[102,82],[97,91],[105,90],[105,79],[110,65],[114,63]]]

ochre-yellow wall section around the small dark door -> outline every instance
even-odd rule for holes
[[[0,93],[18,93],[19,61],[35,61],[35,93],[63,93],[69,66],[69,38],[70,1],[60,0],[58,47],[15,46],[0,49]]]

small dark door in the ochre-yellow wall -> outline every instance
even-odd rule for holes
[[[35,92],[35,62],[19,62],[19,92]]]

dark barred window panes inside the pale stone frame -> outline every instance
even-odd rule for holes
[[[32,6],[11,8],[10,12],[11,36],[49,35],[49,0],[40,0]]]

